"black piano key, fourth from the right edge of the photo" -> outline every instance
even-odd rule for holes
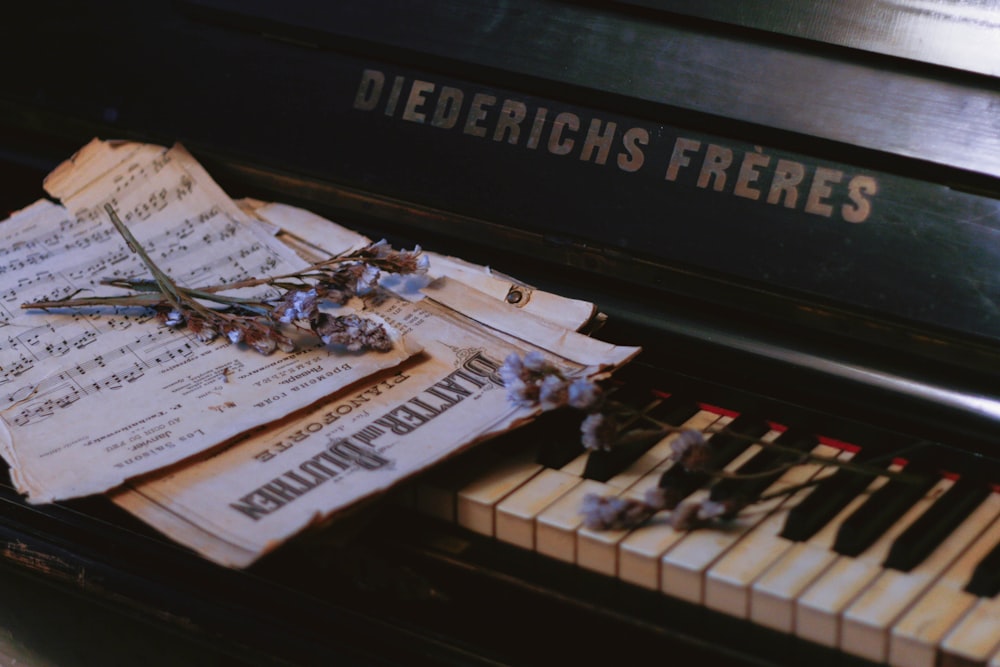
[[[878,457],[874,452],[862,449],[855,456],[855,463],[867,463],[875,466],[888,467],[890,460]],[[859,493],[862,493],[874,478],[854,470],[841,469],[833,473],[812,490],[800,503],[788,513],[781,536],[795,542],[804,542],[815,535],[823,526],[830,522]]]

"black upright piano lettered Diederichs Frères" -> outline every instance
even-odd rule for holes
[[[767,520],[594,531],[571,494],[629,472],[586,474],[540,420],[246,571],[103,498],[30,506],[6,483],[6,568],[249,664],[1000,665],[993,3],[16,13],[0,27],[6,210],[94,136],[180,142],[234,197],[596,302],[594,335],[644,348],[621,374],[637,401],[916,461],[932,484],[805,490],[817,525],[791,537]],[[580,479],[496,491],[517,468],[497,452],[525,443]],[[823,506],[838,493],[848,509]],[[855,512],[867,498],[884,511]]]

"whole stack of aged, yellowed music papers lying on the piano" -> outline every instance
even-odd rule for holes
[[[316,259],[306,253],[369,242],[300,209],[232,201],[180,147],[95,140],[46,188],[62,206],[0,223],[0,453],[12,478],[30,502],[111,492],[227,565],[533,416],[506,397],[508,354],[539,351],[585,377],[637,352],[574,332],[590,304],[436,255],[428,284],[390,280],[393,293],[364,306],[391,332],[388,352],[290,328],[297,351],[262,356],[139,308],[22,310],[120,294],[99,281],[148,275],[107,204],[187,287],[286,274]]]

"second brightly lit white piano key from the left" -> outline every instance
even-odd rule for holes
[[[564,469],[547,469],[532,477],[497,504],[497,539],[534,550],[535,517],[579,483],[579,474]]]

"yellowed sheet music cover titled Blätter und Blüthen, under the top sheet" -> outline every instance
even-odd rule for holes
[[[258,212],[284,230],[310,217],[280,205]],[[339,238],[343,230],[334,229]],[[539,292],[545,307],[532,312],[505,298],[505,276],[459,260],[439,262],[439,271],[445,275],[423,288],[424,299],[383,311],[421,354],[213,456],[132,480],[113,500],[202,555],[244,567],[309,525],[530,418],[534,410],[511,404],[497,376],[508,354],[537,350],[567,374],[593,376],[638,352],[564,326],[573,317],[574,329],[584,324],[590,304]]]

